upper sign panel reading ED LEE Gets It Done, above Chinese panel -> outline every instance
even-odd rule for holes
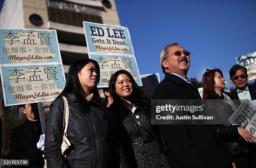
[[[127,27],[83,22],[88,52],[130,54],[133,46]]]

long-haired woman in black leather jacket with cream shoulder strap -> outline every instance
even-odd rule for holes
[[[45,158],[48,168],[117,168],[118,141],[102,105],[97,84],[99,64],[80,59],[69,67],[64,90],[51,104],[46,122]],[[69,104],[67,138],[71,146],[61,154],[65,96]]]

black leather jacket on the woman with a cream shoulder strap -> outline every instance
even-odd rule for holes
[[[119,167],[119,146],[110,116],[104,117],[94,100],[88,102],[87,114],[79,110],[74,94],[68,94],[69,123],[67,137],[71,146],[67,159],[61,154],[63,136],[62,98],[52,102],[46,122],[45,158],[48,168],[115,168]],[[107,119],[106,119],[107,118]]]

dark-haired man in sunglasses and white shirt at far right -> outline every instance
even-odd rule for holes
[[[234,65],[230,71],[230,82],[236,86],[236,89],[231,91],[233,99],[256,99],[256,86],[248,85],[248,75],[246,67]]]

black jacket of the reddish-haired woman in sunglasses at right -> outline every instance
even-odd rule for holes
[[[213,104],[208,104],[208,110],[215,111],[215,114],[218,115],[219,118],[228,119],[232,113],[227,114],[229,112],[233,112],[232,107],[225,103],[225,101],[214,102]],[[228,116],[228,117],[227,117]],[[248,152],[248,149],[243,144],[245,141],[241,138],[238,133],[238,126],[232,124],[218,124],[215,125],[215,129],[220,136],[220,139],[223,141],[225,148],[230,156],[236,155],[239,153]]]

